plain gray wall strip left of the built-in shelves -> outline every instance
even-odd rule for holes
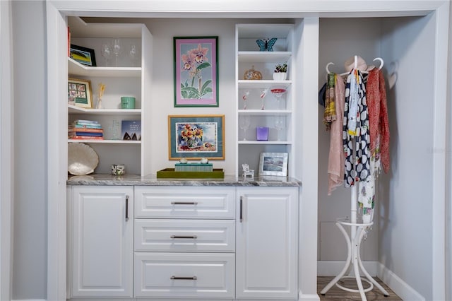
[[[47,295],[47,129],[44,1],[13,1],[16,137],[13,201],[14,300]]]

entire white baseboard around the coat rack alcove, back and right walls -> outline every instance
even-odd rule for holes
[[[402,300],[425,301],[425,298],[420,293],[417,293],[414,288],[408,285],[408,283],[405,283],[405,281],[393,273],[393,271],[386,268],[386,266],[383,266],[383,264],[377,261],[363,261],[362,264],[370,276],[378,277]],[[317,275],[336,276],[342,271],[344,265],[345,261],[317,261]],[[352,272],[350,275],[354,275],[354,273]]]

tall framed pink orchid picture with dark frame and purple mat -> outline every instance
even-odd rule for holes
[[[218,107],[218,37],[174,37],[174,107]]]

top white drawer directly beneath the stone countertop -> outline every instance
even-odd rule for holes
[[[234,187],[135,187],[136,218],[234,218]]]

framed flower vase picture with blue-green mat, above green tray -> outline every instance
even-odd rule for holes
[[[169,160],[225,159],[225,115],[169,115]]]

